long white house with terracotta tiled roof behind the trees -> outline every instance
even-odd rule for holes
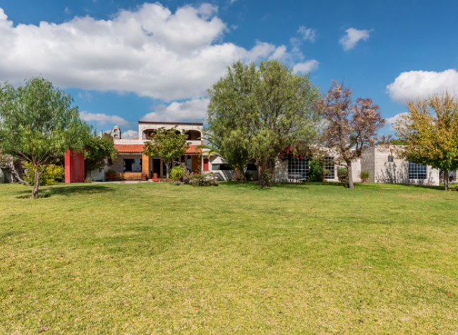
[[[175,128],[176,127],[176,128]],[[220,181],[229,181],[233,171],[231,166],[222,157],[207,157],[205,152],[199,156],[198,145],[202,144],[200,138],[203,135],[203,123],[194,122],[156,122],[138,121],[139,138],[124,140],[121,138],[121,129],[115,126],[112,129],[114,147],[118,150],[118,158],[109,162],[107,167],[97,175],[94,180],[104,178],[108,169],[116,171],[117,180],[140,180],[142,174],[152,178],[157,175],[163,177],[166,174],[164,162],[159,158],[151,158],[143,154],[145,141],[159,128],[175,128],[177,132],[186,131],[188,134],[189,148],[179,162],[186,164],[192,172],[211,171]],[[353,181],[361,182],[361,171],[368,171],[371,183],[403,183],[418,185],[439,185],[439,171],[430,166],[422,166],[398,159],[397,146],[378,146],[364,150],[361,159],[352,162],[351,170]],[[325,158],[324,168],[330,171],[325,175],[325,181],[338,181],[337,169],[341,166],[333,164],[335,154],[329,150],[329,156]],[[310,169],[309,159],[289,158],[277,162],[274,180],[277,182],[291,182],[308,179]],[[254,164],[248,164],[248,173],[252,180],[258,179],[258,171]],[[456,173],[455,173],[456,176]]]

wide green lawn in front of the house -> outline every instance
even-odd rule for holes
[[[0,185],[0,333],[458,334],[458,192]]]

